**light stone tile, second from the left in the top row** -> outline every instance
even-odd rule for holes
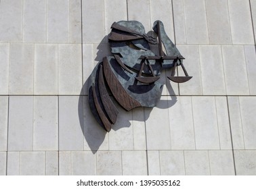
[[[46,0],[24,0],[23,42],[46,42]]]

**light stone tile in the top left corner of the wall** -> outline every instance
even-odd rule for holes
[[[1,0],[0,42],[22,41],[22,0]]]

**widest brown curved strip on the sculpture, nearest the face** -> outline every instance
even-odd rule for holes
[[[134,109],[135,107],[142,107],[139,101],[133,99],[123,88],[119,80],[114,76],[110,65],[108,63],[108,58],[103,58],[103,71],[108,86],[114,96],[114,99],[127,111]]]

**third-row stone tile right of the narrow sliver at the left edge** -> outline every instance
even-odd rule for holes
[[[9,97],[8,150],[33,150],[33,97]]]

